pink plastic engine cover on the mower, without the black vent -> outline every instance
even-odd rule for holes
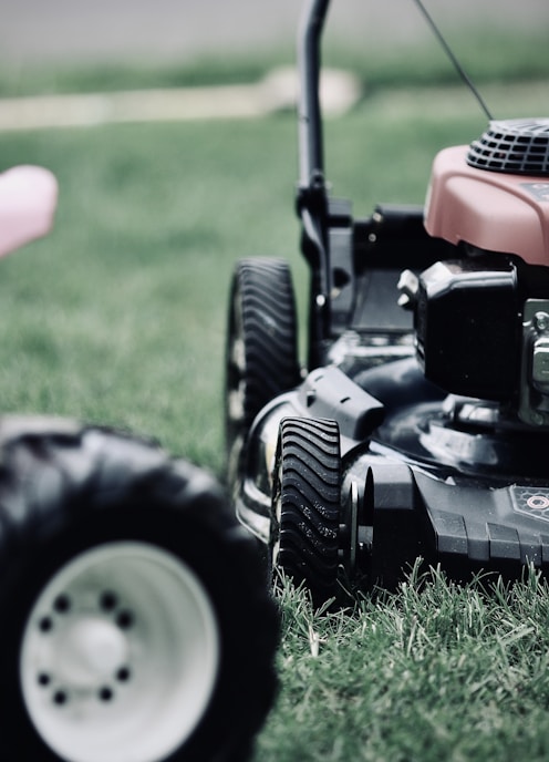
[[[427,233],[549,265],[549,178],[470,167],[468,148],[445,148],[435,157],[425,205]]]

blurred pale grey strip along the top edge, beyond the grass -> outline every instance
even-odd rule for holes
[[[289,49],[299,0],[2,0],[0,63],[182,61],[197,54]],[[547,0],[426,0],[445,30],[547,28]],[[329,34],[391,45],[429,37],[412,0],[336,0]],[[505,55],[505,51],[501,51]]]

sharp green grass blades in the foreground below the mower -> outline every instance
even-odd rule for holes
[[[414,570],[353,612],[283,586],[282,689],[257,762],[470,762],[549,754],[549,590]]]

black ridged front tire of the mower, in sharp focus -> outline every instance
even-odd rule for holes
[[[341,512],[340,434],[335,421],[287,418],[277,445],[270,553],[277,568],[304,584],[320,606],[338,596]]]

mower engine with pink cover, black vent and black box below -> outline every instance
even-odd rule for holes
[[[434,162],[427,233],[463,258],[403,279],[427,379],[549,425],[549,120],[491,122]]]

